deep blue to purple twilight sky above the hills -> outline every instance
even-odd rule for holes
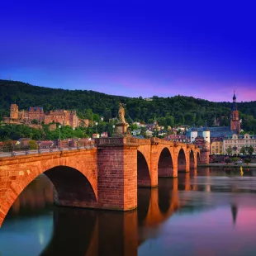
[[[128,97],[256,100],[253,1],[0,4],[0,78]]]

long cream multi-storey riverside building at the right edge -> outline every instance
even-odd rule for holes
[[[223,152],[224,154],[228,154],[227,149],[232,149],[232,154],[240,154],[240,151],[243,147],[246,150],[252,146],[254,148],[254,152],[256,152],[256,135],[232,135],[226,136],[223,140]]]

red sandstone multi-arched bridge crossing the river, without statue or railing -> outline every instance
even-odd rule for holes
[[[102,138],[93,149],[0,158],[0,225],[23,189],[40,173],[55,186],[55,204],[130,211],[137,187],[197,168],[195,145],[132,137]]]

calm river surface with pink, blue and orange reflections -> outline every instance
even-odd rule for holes
[[[44,175],[12,206],[1,256],[256,255],[256,169],[197,168],[140,188],[138,209],[56,207]]]

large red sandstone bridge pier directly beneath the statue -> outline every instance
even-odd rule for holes
[[[102,209],[130,211],[137,207],[137,140],[97,140],[97,195]]]

